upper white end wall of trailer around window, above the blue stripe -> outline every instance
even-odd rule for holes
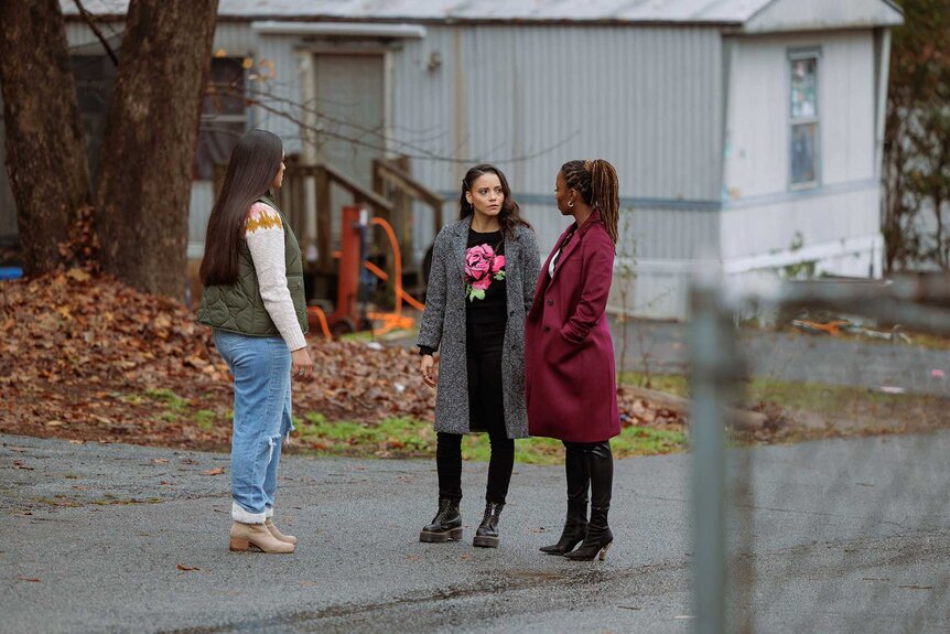
[[[874,178],[874,40],[870,31],[740,37],[733,55],[725,187],[734,200],[789,189],[789,62],[820,51],[822,184]]]

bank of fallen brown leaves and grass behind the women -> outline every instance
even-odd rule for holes
[[[434,434],[421,423],[432,421],[434,391],[415,354],[320,339],[310,348],[313,378],[294,384],[298,447],[431,454]],[[0,282],[0,433],[222,449],[231,398],[209,330],[184,305],[77,269]],[[623,389],[619,401],[624,437],[643,439],[622,442],[622,454],[682,448],[674,412]]]

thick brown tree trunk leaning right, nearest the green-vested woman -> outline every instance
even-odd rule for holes
[[[54,1],[54,0],[51,0]],[[131,0],[102,143],[102,266],[181,299],[188,201],[217,0]]]

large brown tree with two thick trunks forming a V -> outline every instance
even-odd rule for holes
[[[60,1],[0,2],[7,162],[26,275],[68,264],[71,234],[88,223],[95,201],[102,269],[139,290],[182,297],[217,4],[130,0],[94,193]]]

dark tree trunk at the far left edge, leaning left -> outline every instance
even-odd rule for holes
[[[89,170],[58,0],[0,1],[0,88],[7,172],[28,276],[64,261]]]

